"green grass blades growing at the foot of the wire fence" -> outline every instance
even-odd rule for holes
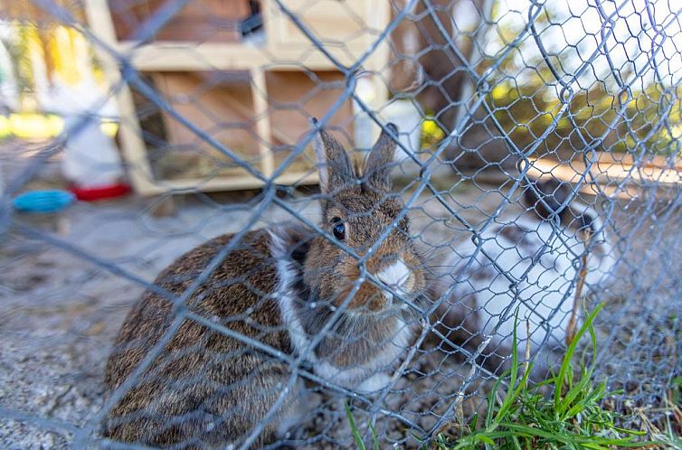
[[[437,450],[526,450],[526,449],[592,449],[613,448],[675,448],[679,441],[664,433],[650,434],[657,441],[642,442],[645,431],[618,427],[617,412],[603,408],[603,400],[616,392],[606,389],[606,381],[594,380],[597,344],[592,323],[601,311],[599,305],[586,318],[566,349],[558,372],[543,382],[529,386],[532,362],[522,365],[516,352],[516,326],[512,346],[512,366],[497,380],[488,396],[484,417],[475,415],[469,421],[464,436],[456,441],[443,435],[431,441]],[[516,323],[517,325],[517,319]],[[578,342],[589,335],[592,343],[592,363],[574,363]],[[519,374],[519,372],[521,372]],[[502,392],[503,385],[508,386]],[[552,389],[552,395],[545,394]],[[365,450],[365,444],[355,427],[353,415],[346,405],[346,416],[355,437],[355,444]],[[374,450],[379,444],[372,428]],[[666,438],[662,438],[666,437]],[[424,445],[427,448],[427,445]]]

